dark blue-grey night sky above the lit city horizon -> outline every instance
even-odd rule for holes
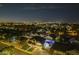
[[[79,23],[79,4],[0,4],[0,21],[58,21]]]

